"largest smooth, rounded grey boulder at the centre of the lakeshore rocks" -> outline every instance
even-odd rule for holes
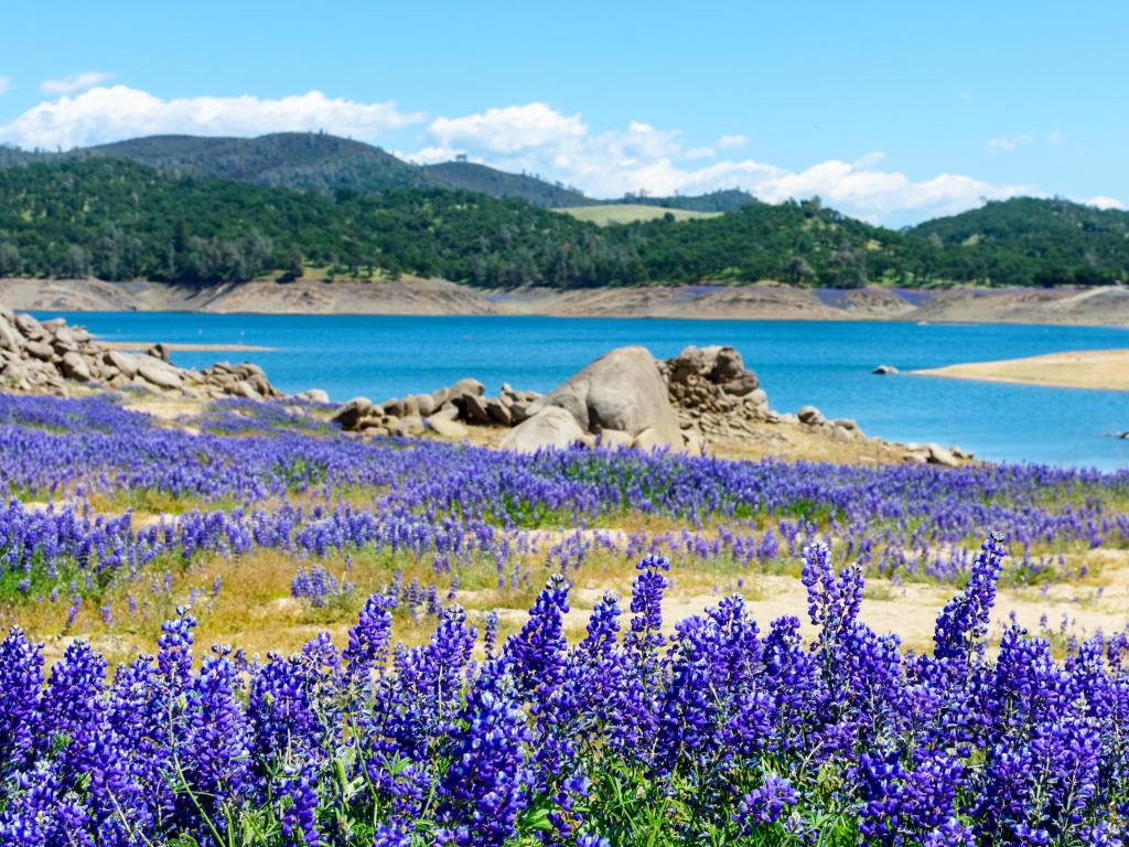
[[[615,429],[638,436],[645,429],[657,444],[682,448],[682,430],[667,396],[666,383],[644,347],[621,347],[602,356],[550,392],[541,412],[559,408],[583,433]],[[526,426],[526,421],[522,426]]]

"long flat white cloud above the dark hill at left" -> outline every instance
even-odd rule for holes
[[[137,136],[259,136],[264,132],[325,130],[374,140],[423,120],[395,103],[331,99],[321,91],[257,97],[161,99],[125,86],[91,88],[73,97],[41,103],[0,125],[0,141],[25,148],[68,149]]]

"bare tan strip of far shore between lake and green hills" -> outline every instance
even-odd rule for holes
[[[903,321],[1129,328],[1129,286],[797,288],[776,283],[482,290],[439,279],[156,282],[0,279],[0,303],[38,312],[544,315],[723,321]]]

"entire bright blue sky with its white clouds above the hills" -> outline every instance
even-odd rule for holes
[[[325,129],[596,197],[742,186],[889,225],[1015,193],[1114,206],[1127,32],[1100,0],[6,0],[0,141]]]

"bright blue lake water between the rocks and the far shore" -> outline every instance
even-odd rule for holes
[[[497,392],[505,381],[546,391],[622,344],[674,356],[688,344],[732,344],[754,369],[774,409],[811,403],[854,418],[869,435],[959,444],[978,456],[1016,462],[1129,466],[1129,394],[870,374],[962,361],[1129,347],[1109,328],[666,321],[563,317],[391,317],[369,315],[62,315],[113,340],[243,343],[271,352],[176,352],[203,367],[216,359],[260,363],[287,392],[322,387],[334,400],[385,400],[431,391],[463,376]]]

